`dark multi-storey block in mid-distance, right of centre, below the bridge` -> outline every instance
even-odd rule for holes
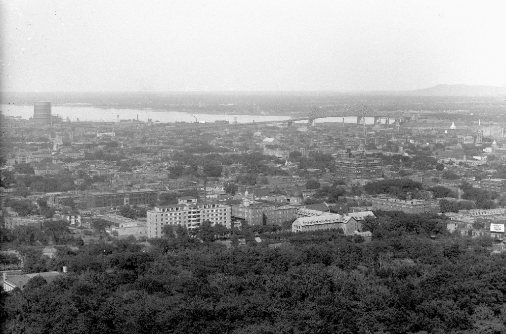
[[[338,178],[373,179],[383,176],[383,161],[374,158],[343,157],[335,161]]]

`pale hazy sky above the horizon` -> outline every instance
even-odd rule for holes
[[[4,91],[506,84],[504,1],[0,3]]]

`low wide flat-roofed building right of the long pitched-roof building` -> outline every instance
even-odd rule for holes
[[[437,213],[439,204],[436,200],[399,200],[396,198],[377,198],[372,200],[372,210],[402,211],[405,213]]]

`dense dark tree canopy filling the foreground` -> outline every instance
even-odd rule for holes
[[[246,228],[250,241],[227,248],[207,226],[149,244],[61,247],[33,269],[68,274],[0,295],[2,332],[502,332],[506,256],[491,255],[490,239],[448,234],[433,216],[376,214],[371,242]]]

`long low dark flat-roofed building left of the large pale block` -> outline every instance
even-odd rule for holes
[[[88,209],[118,207],[122,205],[147,205],[158,199],[158,192],[152,189],[117,190],[108,193],[90,193],[86,195]]]

